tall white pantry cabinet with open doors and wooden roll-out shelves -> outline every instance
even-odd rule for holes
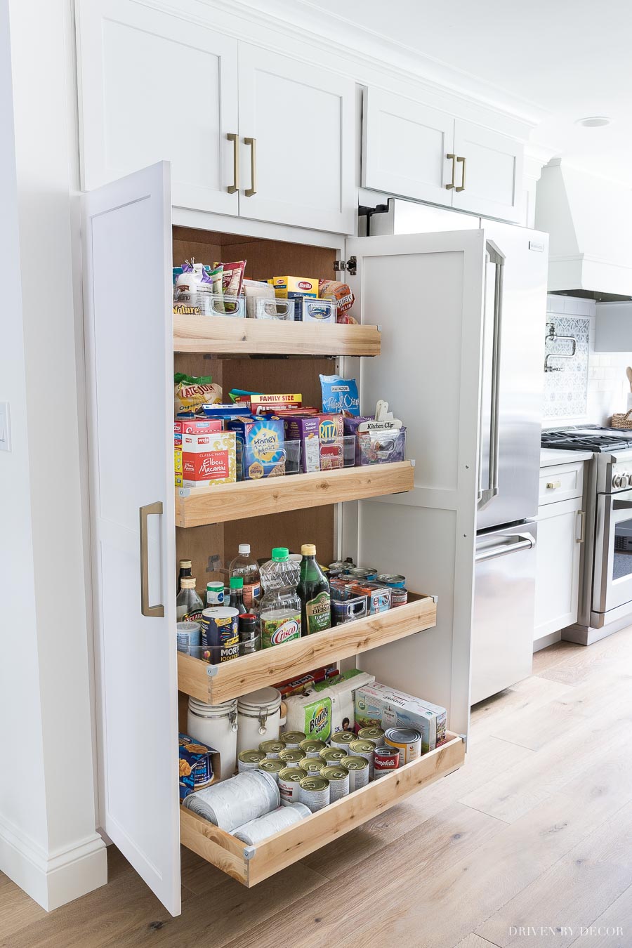
[[[469,716],[483,232],[353,238],[334,250],[301,244],[298,229],[291,243],[207,222],[172,227],[166,162],[85,195],[100,826],[173,914],[180,842],[257,884],[459,767]],[[344,259],[362,324],[173,317],[172,264],[191,254],[246,259],[254,279],[324,278]],[[355,376],[363,410],[386,398],[404,420],[414,460],[179,489],[174,502],[174,366],[212,374],[225,392],[285,389],[310,404],[318,373]],[[190,556],[203,585],[213,555],[226,563],[244,539],[255,556],[311,540],[324,562],[351,555],[404,573],[409,602],[219,667],[177,654],[177,559]],[[188,695],[219,703],[353,658],[445,705],[446,743],[257,847],[180,811]]]

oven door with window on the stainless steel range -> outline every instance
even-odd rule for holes
[[[592,609],[632,604],[632,490],[597,495]],[[632,608],[632,606],[631,606]]]

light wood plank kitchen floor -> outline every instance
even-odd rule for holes
[[[632,627],[551,646],[474,709],[464,768],[276,878],[183,849],[172,919],[111,847],[110,884],[50,915],[0,874],[0,945],[630,948],[631,685]]]

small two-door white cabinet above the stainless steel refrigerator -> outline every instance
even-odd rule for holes
[[[362,184],[486,217],[517,221],[521,142],[419,101],[365,90]]]

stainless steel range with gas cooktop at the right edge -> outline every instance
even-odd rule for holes
[[[632,622],[632,431],[587,425],[542,432],[542,447],[591,451],[577,624],[563,638],[590,645]]]

